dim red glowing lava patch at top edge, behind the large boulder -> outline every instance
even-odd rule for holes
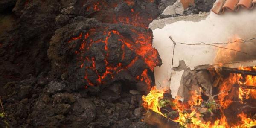
[[[108,2],[105,0],[92,0],[86,2],[85,13],[87,15],[93,14],[92,17],[102,23],[122,23],[148,28],[148,24],[159,15],[157,8],[149,4],[154,1],[143,0],[144,4],[148,4],[143,6],[148,6],[148,8],[141,9],[141,2],[136,0],[111,0]],[[106,12],[108,12],[107,15]]]

